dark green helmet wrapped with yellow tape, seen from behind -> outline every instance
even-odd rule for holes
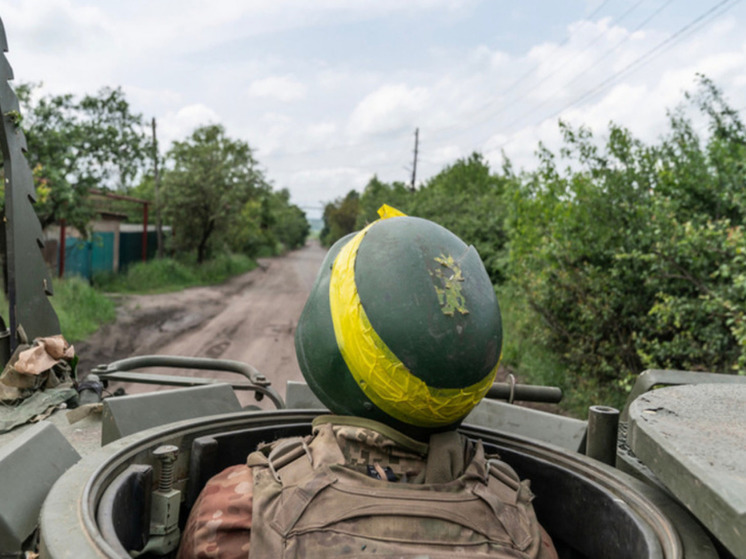
[[[492,386],[500,309],[474,247],[431,221],[379,213],[329,250],[295,348],[332,412],[424,437],[458,425]]]

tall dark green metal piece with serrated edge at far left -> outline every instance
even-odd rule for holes
[[[8,51],[5,28],[0,22],[0,46]],[[60,333],[57,315],[49,302],[52,280],[44,263],[41,225],[32,203],[36,190],[23,152],[26,138],[20,128],[18,98],[8,84],[13,70],[0,56],[0,148],[5,172],[5,246],[8,270],[10,350],[18,344],[19,332],[28,340]]]

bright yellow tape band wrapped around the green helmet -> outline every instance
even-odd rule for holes
[[[484,397],[497,364],[481,381],[464,388],[434,388],[413,375],[380,338],[368,320],[355,284],[355,259],[368,225],[334,260],[329,303],[342,357],[363,393],[391,417],[419,427],[449,425],[463,418]]]

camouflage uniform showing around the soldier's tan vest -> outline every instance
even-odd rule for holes
[[[305,454],[310,446],[313,450],[314,441],[327,437],[336,441],[341,456],[343,456],[344,468],[357,472],[355,475],[365,474],[368,479],[388,479],[396,483],[407,483],[412,485],[451,481],[463,476],[474,462],[473,458],[476,453],[480,452],[481,444],[476,445],[461,438],[460,452],[454,452],[454,446],[445,446],[447,455],[435,456],[435,459],[428,460],[430,451],[436,452],[437,449],[433,444],[414,441],[405,435],[381,424],[375,424],[376,429],[371,428],[370,420],[352,417],[324,416],[317,418],[314,422],[314,435],[305,439],[286,439],[270,445],[265,445],[256,453],[249,457],[249,464],[238,465],[228,468],[212,478],[205,489],[200,494],[195,503],[192,512],[187,521],[187,525],[182,537],[181,548],[178,559],[188,559],[190,557],[207,558],[246,558],[249,555],[250,540],[252,537],[252,524],[254,524],[254,537],[257,538],[260,533],[257,530],[266,532],[265,524],[270,524],[272,519],[265,522],[265,518],[256,518],[252,520],[252,504],[254,504],[254,483],[258,485],[258,490],[263,491],[261,487],[266,485],[273,476],[285,476],[288,474],[288,466],[299,464],[305,461]],[[451,432],[452,437],[460,437],[455,432]],[[317,445],[319,447],[319,445]],[[429,448],[431,447],[431,448]],[[323,448],[323,447],[320,447]],[[289,451],[286,451],[289,449]],[[263,470],[261,465],[266,462],[266,457],[272,455],[274,451],[273,463],[277,467],[274,474],[269,475],[269,470]],[[318,451],[315,451],[318,452]],[[431,454],[432,454],[431,452]],[[318,455],[314,454],[315,460]],[[430,456],[433,458],[433,456]],[[494,466],[498,464],[500,477],[504,478],[508,485],[514,488],[515,494],[523,494],[523,499],[529,514],[533,515],[533,509],[528,504],[531,499],[530,491],[526,482],[519,483],[517,477],[509,466],[502,462],[490,463]],[[322,458],[324,460],[325,458]],[[283,477],[285,479],[285,477]],[[371,483],[380,482],[371,481]],[[396,488],[395,483],[386,484],[391,488]],[[411,485],[410,485],[411,486]],[[502,486],[501,486],[502,487]],[[502,487],[501,491],[506,490]],[[510,493],[510,491],[508,491]],[[507,495],[507,494],[506,494]],[[503,498],[503,495],[501,495]],[[505,497],[509,499],[509,495]],[[293,507],[280,506],[274,509],[266,503],[267,510],[273,511],[269,516],[274,518],[279,514],[286,514],[287,509]],[[338,512],[338,507],[335,507]],[[509,519],[510,520],[510,519]],[[505,522],[502,519],[501,522]],[[395,522],[394,522],[395,524]],[[503,549],[503,557],[535,557],[538,559],[556,559],[557,555],[552,546],[549,536],[533,520],[534,533],[524,541],[524,551]],[[391,529],[389,526],[387,529]],[[524,530],[525,531],[525,530]],[[460,535],[463,535],[463,531]],[[323,546],[325,540],[319,540]],[[256,541],[255,544],[258,544]],[[318,542],[316,550],[319,549]],[[261,545],[260,545],[261,547]],[[302,545],[295,549],[298,556],[304,556]],[[323,549],[323,547],[321,547]],[[476,548],[475,548],[476,549]],[[479,553],[490,555],[490,549],[484,547]],[[258,551],[258,549],[257,549]],[[329,550],[331,551],[331,549]],[[382,549],[379,551],[383,551]],[[499,551],[499,550],[498,550]],[[308,551],[306,551],[308,553]],[[264,554],[266,556],[266,553]],[[272,556],[276,554],[273,553]],[[279,556],[279,555],[278,555]]]

